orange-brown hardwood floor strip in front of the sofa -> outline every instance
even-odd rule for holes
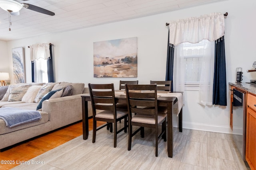
[[[98,126],[105,122],[99,122]],[[89,130],[92,130],[92,119],[89,119]],[[0,160],[14,161],[14,164],[0,164],[0,170],[9,170],[18,164],[20,160],[30,160],[48,150],[58,147],[80,135],[82,135],[82,122],[59,129],[52,133],[42,135],[25,143],[21,143],[9,150],[0,152]],[[6,162],[7,163],[7,162]]]

